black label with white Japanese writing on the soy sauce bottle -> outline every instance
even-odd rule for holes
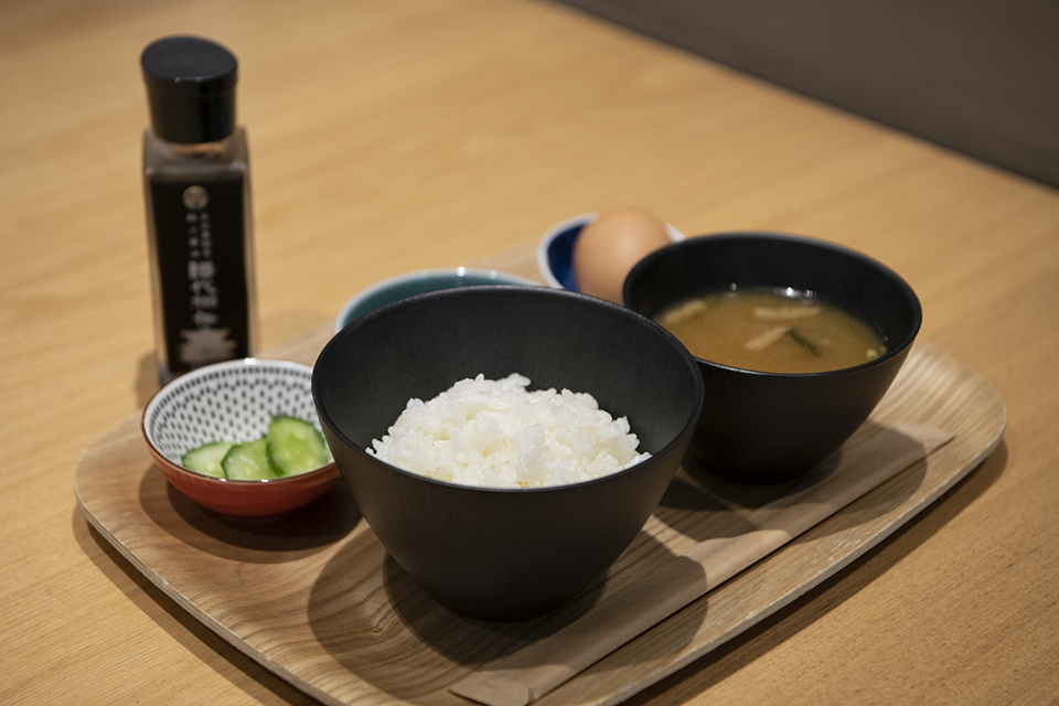
[[[171,374],[250,354],[244,180],[150,182]]]

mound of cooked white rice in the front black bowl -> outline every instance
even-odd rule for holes
[[[488,488],[544,488],[600,478],[648,459],[625,417],[586,393],[527,392],[512,373],[462,379],[434,399],[409,399],[368,453],[440,481]]]

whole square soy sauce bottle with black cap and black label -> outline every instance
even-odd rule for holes
[[[164,385],[257,346],[249,160],[229,51],[169,36],[145,49],[140,65],[151,114],[143,186],[154,359]]]

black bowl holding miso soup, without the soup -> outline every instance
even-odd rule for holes
[[[772,233],[726,233],[665,246],[625,278],[627,307],[645,317],[732,286],[812,292],[875,327],[887,352],[823,373],[761,373],[696,357],[705,400],[689,466],[747,483],[779,483],[834,453],[886,394],[922,324],[911,287],[852,249]]]

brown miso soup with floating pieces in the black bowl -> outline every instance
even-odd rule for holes
[[[819,373],[886,353],[876,331],[842,309],[787,289],[732,289],[684,301],[656,321],[692,355],[744,370]]]

